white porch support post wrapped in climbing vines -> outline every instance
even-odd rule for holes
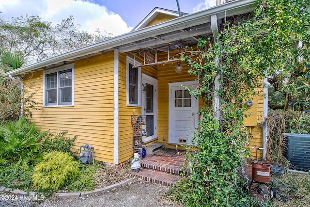
[[[217,15],[212,15],[211,16],[211,30],[213,34],[214,41],[217,41],[217,35],[218,35],[218,29],[217,29]],[[218,56],[215,57],[215,64],[218,66]],[[219,85],[219,78],[221,74],[217,73],[217,76],[215,77],[214,80],[214,86],[213,86],[213,111],[214,111],[214,119],[219,121],[220,119],[220,100],[218,97],[218,91],[220,90],[220,85]]]

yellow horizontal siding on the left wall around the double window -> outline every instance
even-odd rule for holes
[[[78,135],[73,151],[89,144],[95,159],[113,163],[113,69],[113,51],[76,61],[73,107],[42,108],[42,71],[31,74],[30,80],[29,75],[25,83],[35,82],[29,91],[37,91],[34,99],[41,109],[32,112],[31,120],[42,130]]]

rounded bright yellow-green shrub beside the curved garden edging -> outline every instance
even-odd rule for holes
[[[78,176],[78,161],[64,152],[51,152],[34,167],[33,185],[42,191],[59,190]]]

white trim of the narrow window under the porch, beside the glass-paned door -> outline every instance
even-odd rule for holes
[[[126,58],[126,106],[141,107],[141,67],[138,67],[138,104],[129,103],[129,64],[140,65],[134,59],[127,56]]]

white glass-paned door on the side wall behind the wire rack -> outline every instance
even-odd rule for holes
[[[146,142],[157,139],[157,80],[142,74],[142,115],[146,118]]]

